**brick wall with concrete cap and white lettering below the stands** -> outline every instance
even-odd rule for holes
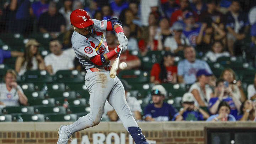
[[[70,122],[1,122],[0,144],[56,144],[58,139],[57,131],[62,124],[68,125]],[[138,124],[142,128],[146,139],[154,140],[156,144],[204,144],[204,127],[256,127],[256,122],[183,121],[140,122]],[[82,144],[88,144],[85,136],[87,135],[90,144],[95,144],[96,139],[93,138],[94,136],[96,137],[98,133],[102,133],[101,135],[105,135],[107,139],[111,132],[116,133],[121,139],[120,143],[120,141],[117,142],[118,138],[114,139],[112,137],[111,142],[113,144],[123,144],[124,141],[126,144],[132,143],[129,140],[128,132],[126,132],[122,123],[118,122],[101,122],[95,127],[73,134],[72,137],[78,139],[78,144],[81,142]],[[121,133],[123,133],[123,136],[125,134],[125,138],[121,136]],[[107,140],[104,141],[104,144],[109,143]]]

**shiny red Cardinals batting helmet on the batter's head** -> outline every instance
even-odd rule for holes
[[[82,9],[76,9],[72,11],[70,15],[70,22],[72,25],[78,28],[84,28],[94,23],[89,14]]]

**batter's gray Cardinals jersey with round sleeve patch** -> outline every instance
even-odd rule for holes
[[[71,38],[76,57],[79,59],[80,63],[85,66],[85,69],[107,66],[110,63],[96,65],[90,60],[91,57],[97,54],[101,55],[109,52],[106,38],[102,33],[102,31],[106,31],[107,29],[107,20],[92,20],[94,21],[94,32],[91,33],[91,35],[83,36],[74,31]]]

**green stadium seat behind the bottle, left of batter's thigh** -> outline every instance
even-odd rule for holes
[[[56,98],[59,105],[63,105],[65,98]],[[69,106],[89,106],[89,101],[87,101],[85,98],[78,98],[78,99],[68,99]]]

